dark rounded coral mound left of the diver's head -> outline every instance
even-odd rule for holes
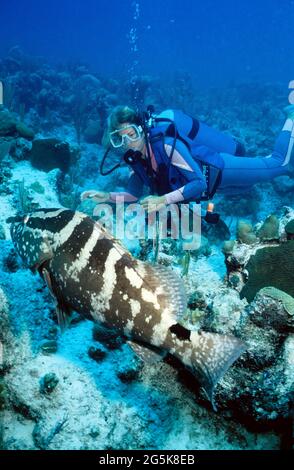
[[[39,170],[49,172],[53,168],[60,168],[68,172],[72,163],[70,146],[58,139],[36,139],[33,141],[30,161]]]

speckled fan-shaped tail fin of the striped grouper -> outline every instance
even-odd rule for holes
[[[192,371],[215,409],[215,386],[247,349],[246,344],[235,336],[197,331],[191,332],[190,341]]]

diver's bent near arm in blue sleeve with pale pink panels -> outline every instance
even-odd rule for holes
[[[165,144],[167,155],[171,154],[172,145]],[[176,204],[190,199],[199,199],[207,185],[203,173],[183,142],[177,142],[172,156],[172,165],[176,166],[187,182],[184,186],[165,194],[167,204]]]

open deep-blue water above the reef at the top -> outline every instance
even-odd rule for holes
[[[0,8],[0,57],[19,45],[116,78],[181,71],[207,86],[287,87],[294,77],[293,0],[1,0]]]

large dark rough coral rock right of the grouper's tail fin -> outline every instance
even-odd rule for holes
[[[254,301],[240,312],[233,326],[235,334],[247,344],[247,350],[221,380],[216,391],[220,410],[255,426],[277,426],[291,419],[293,397],[293,317],[280,300],[260,291]],[[276,297],[283,297],[279,293]],[[286,298],[288,305],[289,298]],[[292,306],[292,299],[290,299]],[[291,307],[292,308],[292,307]],[[234,319],[231,319],[234,322]],[[290,324],[291,323],[291,324]],[[216,324],[221,331],[220,323]],[[225,328],[227,325],[225,325]],[[285,359],[287,355],[287,359]],[[292,374],[292,377],[291,377]],[[291,377],[291,378],[290,378]]]

